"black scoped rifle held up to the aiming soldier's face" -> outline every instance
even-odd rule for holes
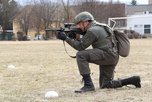
[[[60,27],[59,29],[45,29],[45,31],[53,31],[57,33],[64,32],[71,39],[77,39],[77,35],[84,35],[80,28],[74,26],[74,23],[64,23],[64,27]]]

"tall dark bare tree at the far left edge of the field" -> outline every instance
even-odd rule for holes
[[[18,4],[14,0],[0,0],[0,25],[3,28],[1,40],[5,40],[7,30],[13,29],[13,18],[18,11]]]

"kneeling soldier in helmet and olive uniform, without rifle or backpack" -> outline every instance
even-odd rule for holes
[[[113,80],[114,70],[119,60],[116,43],[108,38],[108,33],[100,23],[94,20],[89,12],[79,13],[74,23],[85,35],[80,40],[70,39],[65,33],[60,32],[58,39],[66,41],[71,47],[78,50],[76,54],[79,72],[84,80],[84,86],[75,90],[76,93],[95,91],[94,84],[90,76],[89,63],[99,65],[99,85],[100,88],[118,88],[125,85],[134,85],[140,88],[140,77],[133,76],[121,80]],[[86,49],[92,45],[93,49]]]

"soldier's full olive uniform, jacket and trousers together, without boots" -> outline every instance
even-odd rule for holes
[[[100,79],[113,79],[113,72],[119,55],[117,48],[109,39],[109,34],[97,22],[91,23],[91,27],[79,41],[66,39],[66,42],[78,50],[76,58],[81,75],[90,74],[89,63],[95,63],[100,67]],[[86,49],[90,45],[93,49]]]

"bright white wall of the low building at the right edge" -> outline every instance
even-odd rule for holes
[[[152,33],[152,14],[133,15],[127,18],[127,29],[144,34],[144,25],[151,25]]]

